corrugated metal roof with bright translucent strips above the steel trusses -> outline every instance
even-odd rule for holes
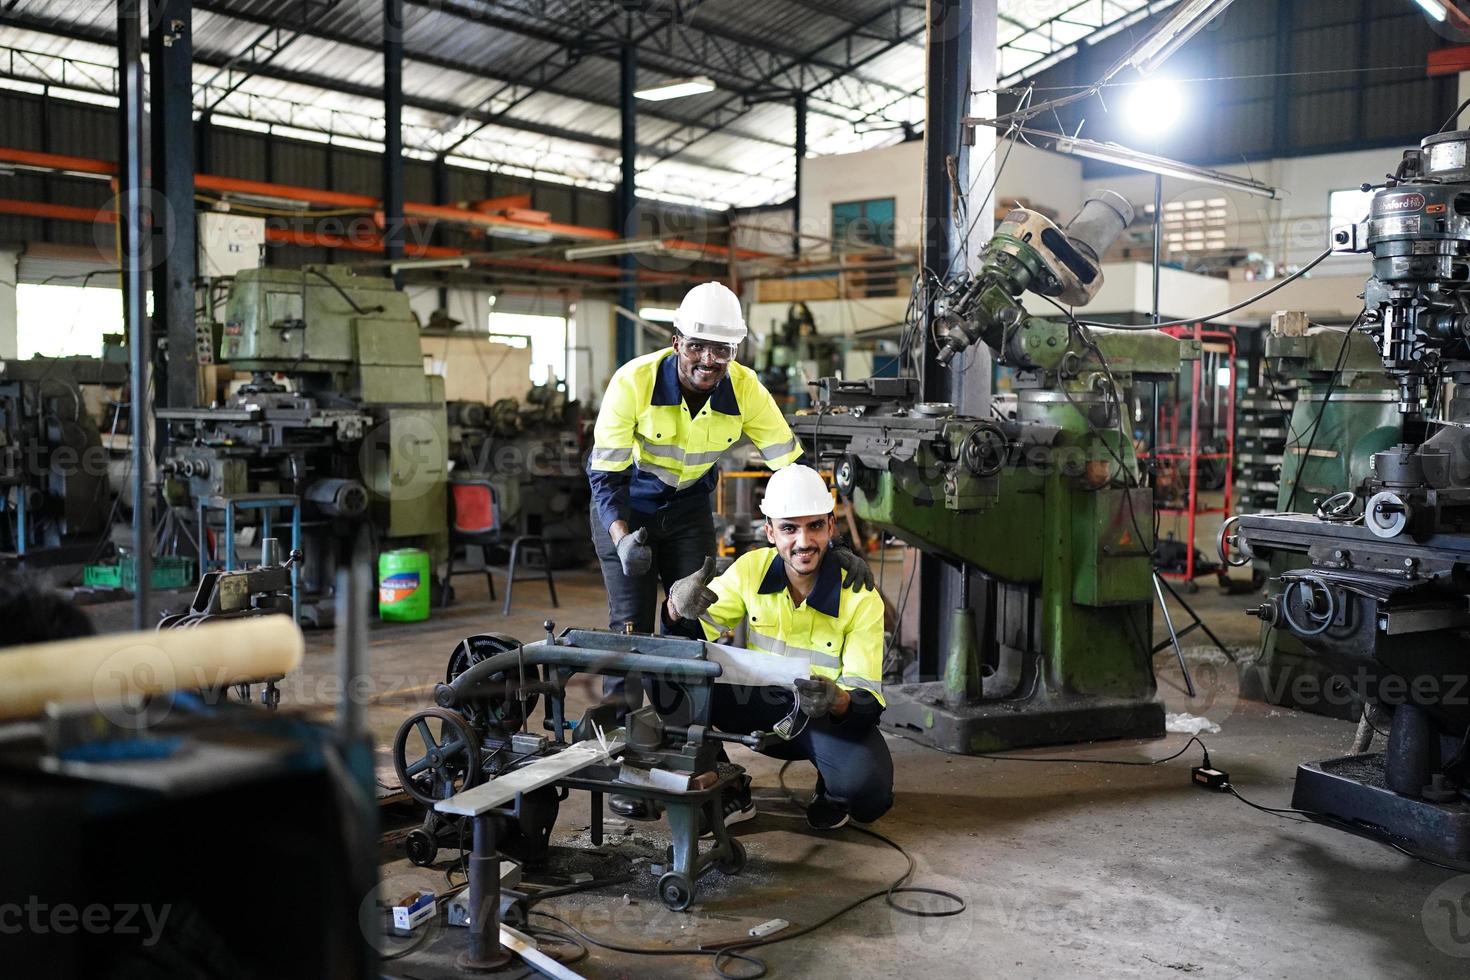
[[[1003,73],[1170,3],[1001,0]],[[619,65],[612,47],[594,44],[609,38],[638,43],[641,85],[695,73],[719,85],[639,103],[639,190],[650,194],[713,207],[788,198],[794,112],[789,100],[769,101],[781,90],[808,93],[813,154],[894,143],[904,125],[923,122],[925,15],[916,0],[706,0],[645,13],[588,0],[404,7],[406,147],[432,154],[453,145],[506,173],[616,182]],[[201,109],[215,106],[225,125],[381,138],[381,3],[196,0],[194,9]],[[0,13],[0,47],[50,57],[0,62],[0,76],[112,91],[115,18],[109,3],[12,0]]]

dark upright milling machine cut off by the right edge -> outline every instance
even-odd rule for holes
[[[1335,250],[1373,257],[1360,323],[1392,383],[1391,444],[1382,428],[1320,438],[1341,460],[1367,453],[1367,475],[1320,500],[1304,472],[1314,513],[1241,516],[1223,538],[1244,551],[1238,561],[1299,566],[1255,614],[1391,718],[1385,752],[1299,767],[1292,805],[1464,860],[1470,400],[1445,391],[1470,383],[1470,132],[1424,140],[1374,194],[1370,219],[1332,235]],[[1341,367],[1347,338],[1339,348]],[[1320,413],[1333,400],[1324,392]]]

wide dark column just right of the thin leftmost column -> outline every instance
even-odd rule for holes
[[[198,398],[198,347],[194,331],[194,97],[190,25],[194,0],[157,0],[148,24],[148,119],[153,148],[153,316],[168,338],[159,395],[171,408],[194,408]]]

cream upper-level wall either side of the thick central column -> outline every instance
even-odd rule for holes
[[[997,165],[1004,154],[1005,147],[1001,147]],[[976,187],[970,197],[982,197],[988,190]],[[1066,220],[1082,207],[1082,163],[1060,153],[1017,144],[1001,170],[995,194],[1000,198],[1025,198]],[[923,239],[922,140],[808,159],[801,181],[803,234],[831,238],[833,204],[881,197],[894,198],[894,244],[917,248]],[[808,247],[825,251],[820,242],[808,242]]]

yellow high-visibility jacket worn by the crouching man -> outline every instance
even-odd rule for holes
[[[801,605],[786,589],[786,563],[775,548],[747,551],[710,582],[719,601],[701,620],[704,638],[747,621],[745,645],[776,657],[810,657],[813,676],[844,691],[866,691],[883,705],[883,599],[876,589],[842,588],[842,567],[828,555]]]

